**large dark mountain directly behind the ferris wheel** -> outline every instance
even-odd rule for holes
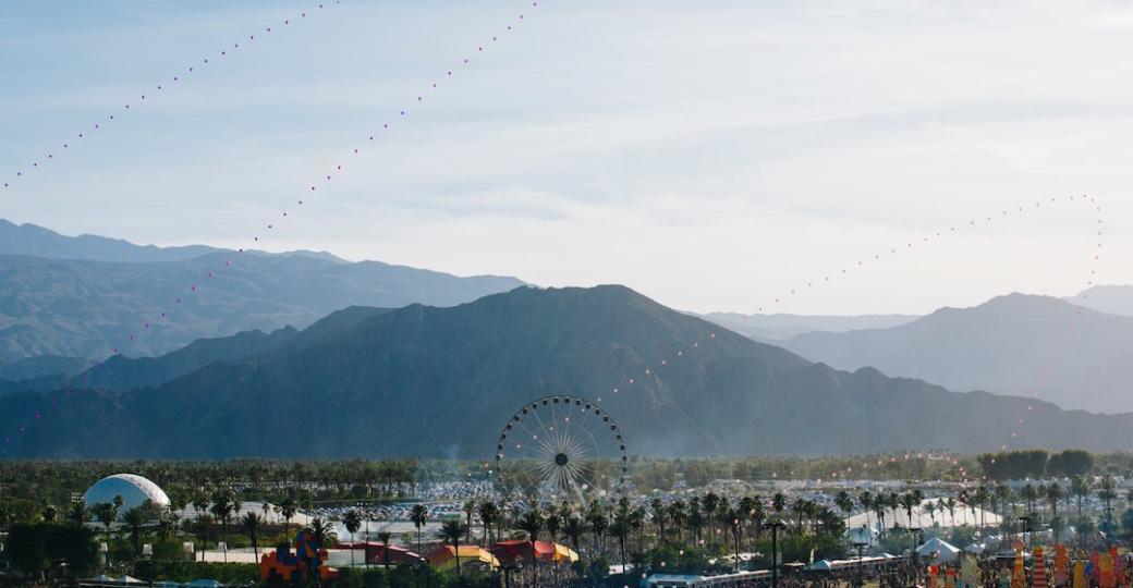
[[[7,455],[488,458],[510,415],[565,393],[600,398],[632,454],[980,451],[1008,442],[1021,415],[1033,426],[1012,446],[1133,445],[1133,416],[837,372],[621,287],[520,288],[332,323],[307,344],[157,387],[0,399]]]

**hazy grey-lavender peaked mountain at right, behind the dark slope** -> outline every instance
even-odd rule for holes
[[[1133,317],[1056,298],[1015,293],[889,329],[804,333],[783,346],[841,369],[872,366],[953,390],[1097,412],[1133,410]]]

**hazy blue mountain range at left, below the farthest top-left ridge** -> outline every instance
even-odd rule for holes
[[[212,253],[150,263],[0,255],[0,365],[36,356],[100,359],[114,348],[156,355],[199,338],[303,327],[350,305],[450,306],[521,283],[307,255]]]

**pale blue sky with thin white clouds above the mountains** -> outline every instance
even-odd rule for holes
[[[0,3],[0,218],[699,312],[1133,283],[1133,5],[323,3]]]

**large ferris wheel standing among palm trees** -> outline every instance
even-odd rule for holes
[[[556,395],[523,404],[496,444],[500,491],[537,501],[587,502],[619,492],[629,460],[617,424],[589,400]]]

